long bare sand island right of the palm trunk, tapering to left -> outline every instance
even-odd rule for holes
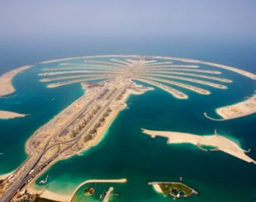
[[[150,131],[143,129],[143,133],[151,136],[162,136],[168,139],[167,144],[182,144],[190,143],[195,145],[206,145],[211,147],[217,147],[222,152],[229,155],[233,155],[236,158],[246,161],[247,163],[255,163],[256,161],[245,154],[246,151],[241,149],[234,141],[227,139],[224,136],[212,135],[212,136],[198,136],[192,133],[178,133],[171,131]]]

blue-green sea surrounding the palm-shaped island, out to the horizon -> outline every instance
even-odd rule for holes
[[[168,55],[212,61],[245,69],[256,74],[256,46],[248,42],[207,39],[165,40],[81,40],[53,42],[6,42],[0,47],[0,74],[18,66],[55,58],[80,55],[142,54]],[[45,65],[50,66],[50,64]],[[221,69],[218,69],[221,70]],[[38,69],[23,71],[13,80],[17,91],[13,98],[0,99],[0,109],[30,114],[14,120],[0,120],[0,174],[13,171],[27,158],[24,145],[41,125],[83,95],[80,85],[48,89],[39,82]],[[222,71],[222,70],[221,70]],[[232,84],[228,90],[211,89],[211,95],[187,92],[188,100],[178,100],[165,91],[155,89],[140,96],[130,96],[120,114],[97,147],[82,156],[62,160],[40,179],[49,175],[45,185],[57,193],[70,193],[86,179],[127,178],[126,184],[97,184],[94,198],[85,198],[81,188],[74,201],[97,201],[102,190],[113,185],[120,197],[113,201],[170,201],[148,186],[151,181],[177,181],[200,194],[178,201],[255,201],[256,166],[223,152],[203,152],[189,144],[166,144],[166,139],[151,139],[140,128],[211,134],[219,133],[251,148],[256,159],[256,114],[237,120],[213,122],[203,117],[214,109],[252,96],[256,83],[241,75],[222,71]],[[1,88],[1,87],[0,87]],[[56,98],[51,102],[51,98]]]

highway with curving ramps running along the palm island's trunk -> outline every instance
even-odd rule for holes
[[[69,123],[67,123],[67,126],[62,128],[61,131],[59,133],[56,133],[54,136],[52,136],[50,139],[48,139],[48,141],[45,143],[45,146],[43,147],[42,151],[39,153],[39,155],[37,155],[37,158],[35,158],[35,160],[33,161],[33,163],[31,163],[31,166],[29,166],[29,168],[26,168],[26,171],[23,171],[23,175],[19,176],[18,181],[14,182],[15,186],[12,187],[10,190],[8,190],[3,197],[0,199],[0,202],[7,202],[10,201],[15,194],[17,193],[18,190],[20,190],[20,188],[22,188],[26,182],[29,181],[29,179],[31,179],[31,177],[34,176],[34,174],[39,174],[40,171],[42,171],[42,168],[45,168],[45,166],[47,166],[50,162],[52,162],[55,158],[57,158],[62,152],[66,151],[67,149],[73,147],[75,144],[78,143],[78,141],[80,141],[81,137],[83,136],[83,134],[86,133],[86,131],[89,130],[89,128],[91,128],[91,126],[95,123],[95,121],[99,118],[100,115],[102,115],[102,112],[104,112],[108,106],[110,106],[110,104],[113,102],[113,100],[116,98],[116,96],[118,96],[118,93],[121,93],[121,90],[124,90],[126,86],[124,85],[123,87],[121,87],[119,90],[116,90],[116,92],[113,94],[113,96],[110,97],[110,99],[107,101],[107,103],[102,106],[99,111],[97,112],[97,114],[94,115],[94,117],[89,121],[89,123],[86,124],[86,126],[83,128],[82,131],[80,131],[79,135],[77,137],[75,137],[74,139],[71,139],[69,141],[62,141],[62,142],[58,142],[56,144],[53,145],[48,145],[50,143],[50,141],[57,137],[60,136],[61,133],[64,133],[64,131],[70,126],[72,125],[72,123],[75,122],[75,120],[78,119],[78,117],[80,117],[81,114],[83,114],[84,112],[86,112],[86,110],[88,109],[88,107],[95,101],[97,100],[97,98],[99,96],[101,96],[102,92],[104,92],[105,88],[103,90],[100,90],[99,93],[97,93],[97,96],[94,97],[94,99],[91,99],[91,101],[89,101],[86,106],[83,106],[83,109],[80,110],[80,112],[78,113],[77,116],[73,117]],[[107,87],[106,87],[107,88]],[[58,149],[58,152],[56,152],[52,157],[48,158],[48,160],[45,160],[44,163],[42,163],[42,165],[40,165],[39,167],[37,167],[31,174],[29,174],[29,172],[34,169],[37,166],[37,163],[39,162],[39,160],[42,158],[42,156],[45,154],[46,151],[48,151],[48,149],[51,149],[53,147],[56,147],[57,145],[61,145],[61,144],[67,144],[69,142],[72,142],[72,144],[69,144],[67,147],[64,147],[64,149]],[[27,162],[27,160],[25,161],[25,163]],[[23,164],[24,165],[24,164]],[[21,168],[21,166],[20,166]],[[17,173],[17,171],[15,172]]]

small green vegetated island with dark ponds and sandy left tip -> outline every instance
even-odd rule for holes
[[[187,198],[192,194],[198,194],[197,191],[182,182],[148,182],[148,185],[152,185],[157,193],[162,193],[165,196],[171,195],[174,198]]]

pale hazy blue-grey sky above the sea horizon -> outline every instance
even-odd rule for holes
[[[1,0],[0,37],[186,37],[255,40],[252,0]]]

